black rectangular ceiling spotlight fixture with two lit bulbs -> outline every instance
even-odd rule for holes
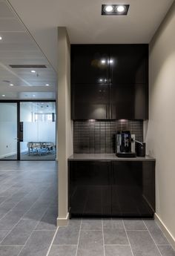
[[[127,15],[129,4],[102,4],[102,15]]]

